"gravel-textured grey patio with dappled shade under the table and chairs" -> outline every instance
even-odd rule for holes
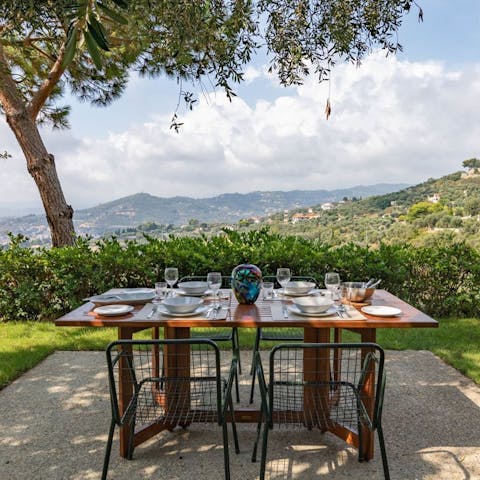
[[[242,400],[248,401],[249,352]],[[392,479],[480,479],[480,388],[430,352],[388,351],[383,413]],[[0,480],[99,479],[109,424],[103,352],[57,352],[0,391]],[[232,480],[258,478],[250,461],[254,425],[239,425]],[[215,425],[163,432],[133,461],[114,442],[111,480],[223,478]],[[380,452],[358,463],[356,450],[327,433],[274,430],[267,478],[382,479]]]

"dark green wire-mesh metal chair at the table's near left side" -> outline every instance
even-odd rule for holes
[[[107,347],[106,354],[112,419],[102,480],[107,478],[116,425],[129,429],[127,458],[131,460],[136,429],[155,424],[156,428],[172,430],[192,422],[217,422],[222,427],[228,480],[228,409],[235,452],[239,453],[231,395],[237,359],[233,357],[225,380],[220,375],[220,351],[211,340],[119,340]]]

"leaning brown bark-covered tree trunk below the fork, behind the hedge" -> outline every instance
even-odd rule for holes
[[[45,208],[52,245],[73,245],[73,209],[67,204],[55,168],[55,159],[47,152],[37,125],[26,109],[7,114],[7,122],[21,146],[27,169],[35,180]]]

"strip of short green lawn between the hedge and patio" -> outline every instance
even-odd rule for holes
[[[140,336],[148,338],[149,331]],[[242,348],[253,345],[255,331],[241,329]],[[116,339],[115,329],[55,327],[52,323],[0,324],[0,388],[35,366],[55,350],[103,350]],[[355,340],[347,334],[344,340]],[[377,341],[386,349],[430,350],[480,384],[480,319],[442,319],[437,329],[379,330]]]

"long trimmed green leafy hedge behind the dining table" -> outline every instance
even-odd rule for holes
[[[331,270],[344,280],[382,278],[383,288],[432,316],[477,316],[480,305],[480,254],[464,244],[335,247],[266,229],[225,231],[210,239],[146,236],[145,242],[126,244],[111,238],[93,247],[79,239],[73,247],[38,250],[24,248],[24,240],[12,236],[0,251],[2,320],[55,319],[109,288],[152,286],[165,266],[177,266],[181,276],[211,270],[229,275],[247,261],[264,275],[289,266],[294,275],[319,282]]]

